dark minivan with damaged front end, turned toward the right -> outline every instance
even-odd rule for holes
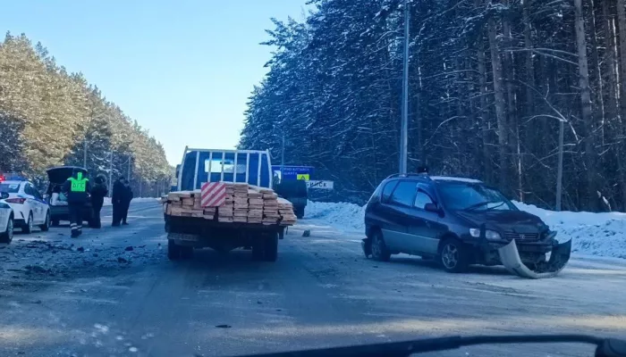
[[[499,265],[498,248],[515,239],[532,269],[558,242],[556,232],[476,179],[393,175],[368,202],[363,251],[379,261],[408,253],[436,259],[450,272],[469,264]]]

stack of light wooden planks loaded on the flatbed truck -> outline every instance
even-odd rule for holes
[[[171,192],[165,200],[166,214],[197,217],[220,222],[280,224],[292,226],[296,222],[293,205],[279,198],[274,190],[250,186],[246,183],[225,182],[226,198],[219,207],[201,205],[200,191]]]

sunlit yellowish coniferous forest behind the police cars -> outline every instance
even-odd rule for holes
[[[172,170],[148,130],[46,47],[7,33],[0,44],[0,170],[40,182],[49,167],[85,162],[92,175],[130,173],[135,195],[169,187]]]

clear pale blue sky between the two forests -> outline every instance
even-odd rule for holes
[[[40,41],[82,71],[165,145],[233,148],[271,48],[270,17],[302,19],[306,0],[20,0],[4,2],[0,29]],[[266,149],[259,147],[258,149]]]

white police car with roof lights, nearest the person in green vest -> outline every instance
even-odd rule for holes
[[[50,206],[38,189],[29,181],[7,177],[0,182],[0,192],[9,194],[4,203],[13,209],[13,224],[24,233],[35,227],[47,231],[50,228]]]

